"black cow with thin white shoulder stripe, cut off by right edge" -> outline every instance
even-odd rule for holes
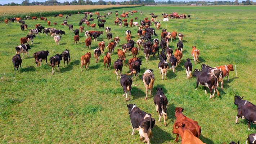
[[[248,122],[248,130],[250,130],[251,123],[256,124],[256,105],[252,104],[248,100],[242,100],[238,95],[235,95],[234,104],[237,105],[237,119],[235,123],[238,123],[238,118],[246,119]]]

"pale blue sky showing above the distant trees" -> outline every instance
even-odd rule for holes
[[[0,0],[0,4],[8,4],[8,3],[18,3],[18,4],[21,4],[23,0]],[[46,0],[30,0],[30,3],[32,1],[39,1],[39,2],[45,2]],[[64,1],[73,1],[73,0],[57,0],[59,2],[64,2]],[[76,0],[78,1],[78,0]],[[98,1],[98,0],[92,0],[93,2],[94,1]],[[105,0],[105,1],[109,1],[109,0]],[[123,1],[123,0],[111,0],[111,1]],[[168,0],[155,0],[155,1],[168,1]],[[184,0],[171,0],[171,1],[184,1]],[[194,0],[185,0],[185,1],[194,1]],[[220,0],[205,0],[205,1],[220,1]],[[234,0],[227,0],[227,1],[234,1]],[[238,0],[239,2],[241,0]],[[254,0],[253,0],[254,1]]]

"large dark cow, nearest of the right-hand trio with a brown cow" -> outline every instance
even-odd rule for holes
[[[198,87],[198,84],[202,85],[205,87],[205,93],[207,94],[206,87],[209,88],[210,90],[210,99],[215,95],[215,91],[217,91],[217,95],[220,96],[219,91],[217,90],[217,83],[218,80],[214,75],[211,75],[207,72],[204,71],[199,71],[198,69],[194,70],[193,76],[197,77],[197,86],[196,90]],[[212,94],[212,89],[214,90],[214,93]]]

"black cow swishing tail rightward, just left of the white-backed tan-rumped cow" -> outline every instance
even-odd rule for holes
[[[133,84],[133,80],[127,75],[121,75],[120,84],[123,87],[123,96],[126,95],[126,101],[130,100],[131,95],[131,85]],[[129,98],[127,98],[127,93],[129,92]]]

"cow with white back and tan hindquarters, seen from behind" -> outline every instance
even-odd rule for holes
[[[145,100],[147,100],[148,98],[148,90],[150,95],[152,96],[152,91],[153,91],[153,86],[154,86],[154,81],[155,81],[155,76],[153,74],[153,70],[152,69],[147,69],[143,75],[142,75],[142,81],[143,84],[146,88],[146,97]]]

